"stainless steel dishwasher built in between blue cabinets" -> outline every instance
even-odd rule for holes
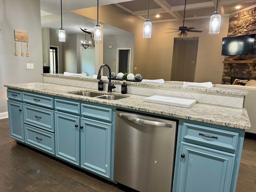
[[[170,192],[176,124],[116,110],[114,180],[140,192]]]

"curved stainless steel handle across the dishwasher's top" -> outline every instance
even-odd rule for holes
[[[132,122],[135,122],[135,123],[172,128],[172,123],[164,123],[164,122],[140,119],[140,118],[132,117],[132,116],[129,116],[128,114],[122,114],[122,113],[118,113],[117,116],[122,118],[122,119],[132,121]]]

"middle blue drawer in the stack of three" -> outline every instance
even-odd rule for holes
[[[54,110],[24,104],[23,111],[24,123],[54,132]]]

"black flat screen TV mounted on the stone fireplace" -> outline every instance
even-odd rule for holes
[[[254,54],[255,34],[222,38],[222,55]]]

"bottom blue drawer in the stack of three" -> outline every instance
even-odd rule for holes
[[[25,124],[25,143],[55,154],[54,134]]]

